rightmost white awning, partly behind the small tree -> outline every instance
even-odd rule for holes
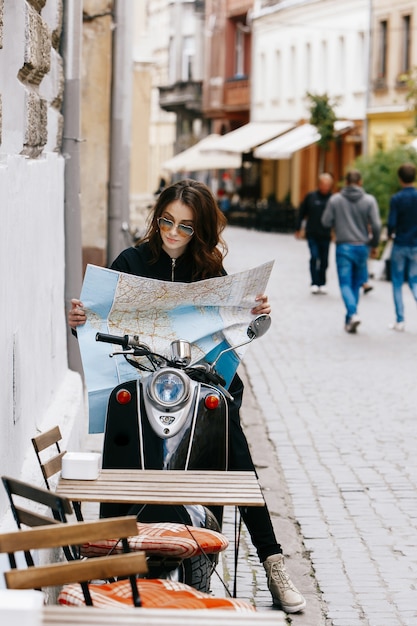
[[[352,128],[353,125],[353,122],[349,120],[337,120],[334,124],[334,131],[340,134]],[[315,126],[302,124],[256,148],[253,154],[258,159],[290,159],[294,152],[311,146],[319,139],[320,133]]]

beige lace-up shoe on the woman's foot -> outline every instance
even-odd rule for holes
[[[268,589],[271,592],[274,604],[281,607],[286,613],[302,611],[306,601],[287,574],[284,556],[282,554],[271,554],[264,561],[263,566],[268,579]]]

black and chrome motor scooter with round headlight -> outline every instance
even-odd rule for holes
[[[156,354],[137,335],[97,333],[96,341],[116,344],[122,350],[111,358],[125,358],[141,377],[117,385],[111,392],[104,432],[103,468],[161,470],[228,469],[229,408],[233,400],[216,366],[225,353],[236,350],[265,334],[269,315],[253,319],[248,339],[222,350],[212,363],[191,363],[191,345],[176,340],[170,355]],[[102,517],[135,514],[142,522],[180,522],[220,530],[207,507],[173,505],[102,504]],[[201,555],[175,567],[181,582],[208,591],[216,557]],[[153,573],[166,564],[152,565]]]

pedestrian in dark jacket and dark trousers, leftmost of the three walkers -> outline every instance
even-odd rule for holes
[[[310,250],[310,291],[313,294],[327,293],[326,270],[329,259],[331,229],[323,226],[321,217],[327,201],[332,195],[333,177],[323,173],[318,178],[318,188],[310,191],[300,204],[295,236],[301,237],[305,222],[305,234]]]

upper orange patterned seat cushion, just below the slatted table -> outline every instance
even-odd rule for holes
[[[129,538],[132,552],[144,550],[148,554],[188,559],[197,554],[216,554],[229,545],[224,535],[208,528],[196,528],[185,524],[157,522],[138,523],[138,534]],[[81,548],[82,556],[104,556],[123,552],[122,542],[117,539],[87,543]]]

